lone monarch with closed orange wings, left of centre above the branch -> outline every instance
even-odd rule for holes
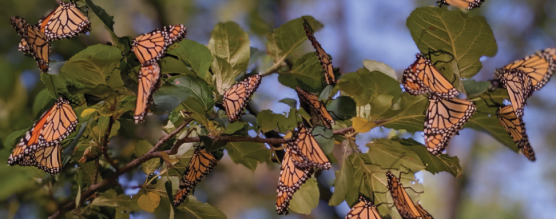
[[[259,88],[261,80],[261,75],[255,74],[226,90],[222,104],[230,123],[240,120],[241,112],[251,99],[251,95]]]

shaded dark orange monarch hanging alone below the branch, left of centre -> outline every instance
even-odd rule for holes
[[[216,157],[207,152],[205,148],[195,148],[193,157],[191,157],[187,166],[187,171],[180,181],[180,189],[177,191],[176,196],[174,196],[174,206],[180,206],[187,197],[187,194],[195,188],[195,185],[216,166],[217,161]]]

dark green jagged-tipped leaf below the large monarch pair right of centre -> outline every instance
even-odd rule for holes
[[[461,174],[461,166],[459,166],[458,157],[450,157],[446,154],[435,156],[426,150],[425,145],[413,139],[393,139],[393,141],[398,141],[402,145],[410,146],[411,149],[419,155],[419,158],[426,166],[425,170],[429,171],[431,174],[442,171],[449,172],[453,176]]]

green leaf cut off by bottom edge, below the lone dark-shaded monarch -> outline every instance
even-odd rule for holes
[[[177,207],[180,211],[186,211],[191,213],[198,219],[226,219],[226,215],[218,208],[209,205],[208,203],[202,203],[197,201],[195,196],[190,195],[184,201],[184,203]]]

